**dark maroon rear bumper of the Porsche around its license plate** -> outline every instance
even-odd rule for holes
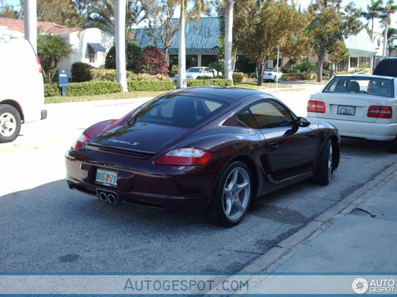
[[[224,163],[223,158],[213,156],[205,166],[161,166],[151,159],[69,150],[66,181],[69,188],[94,196],[97,189],[110,190],[117,194],[118,202],[125,204],[202,211],[210,202]],[[118,171],[117,188],[95,184],[98,167]]]

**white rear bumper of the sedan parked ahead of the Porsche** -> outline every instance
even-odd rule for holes
[[[357,121],[335,120],[308,116],[309,122],[328,122],[335,126],[341,136],[358,137],[369,140],[390,141],[397,135],[397,123],[369,123]]]

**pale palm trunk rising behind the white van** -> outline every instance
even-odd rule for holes
[[[25,39],[37,53],[37,6],[36,0],[23,0],[23,24]]]

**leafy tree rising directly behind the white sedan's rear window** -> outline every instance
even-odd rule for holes
[[[353,2],[341,7],[342,0],[315,0],[308,8],[312,21],[308,27],[314,52],[318,57],[317,81],[322,81],[322,69],[327,54],[342,47],[343,38],[355,35],[362,29],[358,19],[360,10]]]

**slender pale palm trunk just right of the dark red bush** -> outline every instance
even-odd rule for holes
[[[181,0],[179,17],[178,79],[177,88],[186,88],[185,0]]]

